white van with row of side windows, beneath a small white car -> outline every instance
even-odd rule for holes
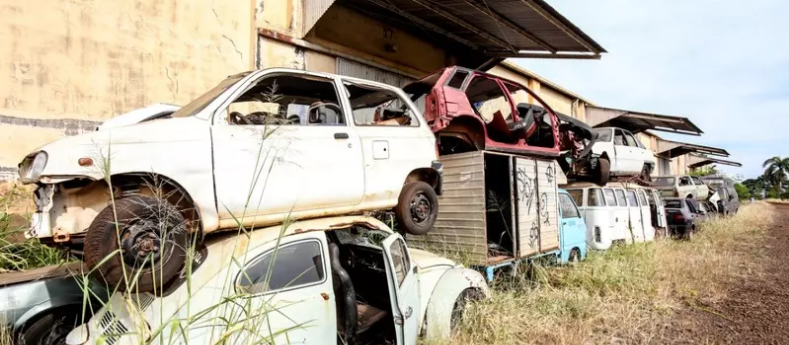
[[[587,245],[606,250],[615,242],[645,242],[655,238],[647,191],[633,183],[572,183],[564,187],[586,221]]]

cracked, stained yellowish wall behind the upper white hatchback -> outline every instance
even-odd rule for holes
[[[0,167],[249,70],[251,1],[0,0]],[[7,170],[7,169],[6,169]]]

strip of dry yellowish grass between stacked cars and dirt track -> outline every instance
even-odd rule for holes
[[[468,310],[455,344],[667,343],[667,325],[684,305],[703,309],[725,286],[757,274],[754,254],[772,221],[766,203],[704,224],[691,242],[654,243],[592,253],[576,267],[538,269],[494,287]]]

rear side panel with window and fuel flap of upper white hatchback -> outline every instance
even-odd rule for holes
[[[343,82],[364,164],[364,203],[397,204],[411,171],[436,159],[435,135],[408,97],[394,87]]]

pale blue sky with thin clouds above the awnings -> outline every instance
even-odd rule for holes
[[[789,1],[547,0],[607,51],[600,60],[514,59],[595,105],[690,118],[742,168],[789,156]]]

